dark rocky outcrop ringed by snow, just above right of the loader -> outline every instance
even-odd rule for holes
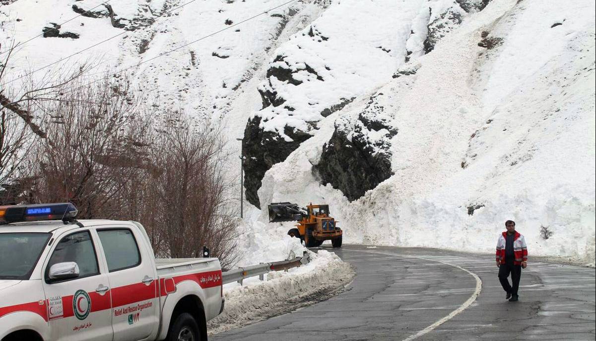
[[[350,201],[393,175],[389,147],[398,130],[377,115],[384,112],[377,96],[383,93],[371,97],[355,122],[336,123],[331,139],[323,146],[321,161],[313,167],[321,184],[331,184]]]

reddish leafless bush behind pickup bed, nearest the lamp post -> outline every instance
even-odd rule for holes
[[[160,168],[150,179],[150,226],[158,254],[200,257],[203,246],[223,267],[237,261],[236,214],[229,211],[224,143],[218,130],[202,127],[182,113],[172,113],[156,133],[151,159]]]

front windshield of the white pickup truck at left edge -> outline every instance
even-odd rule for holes
[[[0,279],[29,279],[50,233],[0,233]]]

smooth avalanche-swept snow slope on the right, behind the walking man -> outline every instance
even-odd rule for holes
[[[266,173],[261,204],[329,203],[349,242],[468,251],[513,219],[530,254],[593,264],[594,36],[589,1],[491,2],[322,119]],[[365,153],[390,175],[358,197]]]

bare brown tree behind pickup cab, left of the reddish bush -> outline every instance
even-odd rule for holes
[[[71,81],[61,100],[40,109],[47,133],[38,150],[38,201],[72,201],[83,218],[120,216],[126,180],[151,168],[148,144],[136,140],[150,124],[136,115],[142,106],[128,79],[120,84]]]

